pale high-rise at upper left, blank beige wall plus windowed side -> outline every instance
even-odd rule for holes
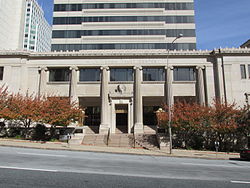
[[[51,26],[36,0],[0,0],[0,26],[0,50],[51,49]]]

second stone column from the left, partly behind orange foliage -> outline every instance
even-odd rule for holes
[[[78,97],[77,97],[77,71],[78,67],[70,67],[71,70],[71,80],[70,80],[70,102],[78,104]]]

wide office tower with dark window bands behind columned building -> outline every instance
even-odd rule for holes
[[[52,51],[196,48],[193,0],[54,3]]]

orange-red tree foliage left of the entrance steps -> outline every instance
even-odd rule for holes
[[[33,122],[67,126],[82,116],[82,110],[66,97],[35,97],[9,94],[0,88],[0,118],[22,122],[28,128]]]

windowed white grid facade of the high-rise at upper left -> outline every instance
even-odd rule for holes
[[[51,26],[36,0],[26,0],[23,48],[35,51],[51,51]]]

